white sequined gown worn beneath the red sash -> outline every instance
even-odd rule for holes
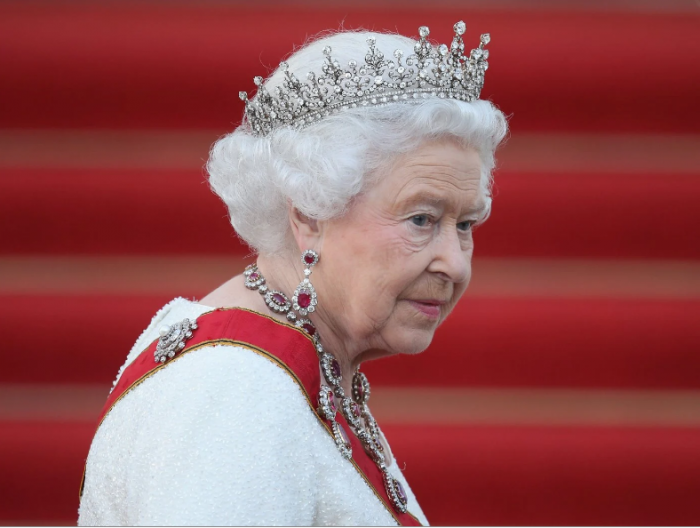
[[[209,310],[175,299],[156,314],[126,365],[162,325]],[[396,466],[390,469],[406,489],[409,512],[427,524]],[[88,455],[78,524],[396,521],[342,458],[290,376],[246,349],[216,346],[151,376],[107,415]]]

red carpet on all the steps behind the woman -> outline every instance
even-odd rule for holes
[[[199,130],[213,140],[239,121],[238,91],[251,91],[254,75],[265,74],[308,35],[344,20],[347,28],[407,35],[427,24],[431,36],[445,41],[463,18],[468,47],[479,33],[492,35],[482,95],[511,116],[513,140],[561,133],[584,154],[568,159],[552,151],[549,170],[539,170],[531,153],[527,163],[505,164],[496,174],[493,215],[475,234],[477,257],[550,265],[595,259],[618,271],[633,260],[697,264],[700,146],[693,152],[687,145],[700,137],[700,15],[667,7],[4,2],[0,263],[18,256],[41,262],[62,255],[247,253],[196,156],[195,163],[164,169],[143,163],[143,153],[120,151],[120,164],[110,151],[110,161],[101,163],[87,155],[93,153],[83,160],[78,149],[75,163],[54,165],[55,145],[48,155],[42,149],[50,145],[27,139],[28,154],[18,156],[16,143],[3,143],[13,133],[37,131],[55,140],[70,130],[96,137],[114,130]],[[603,149],[600,159],[583,164],[595,150],[587,143],[595,134],[646,138],[656,161],[610,168],[604,158],[615,152]],[[657,137],[683,138],[674,150],[683,156],[657,148]],[[162,152],[167,156],[167,148]],[[175,158],[189,159],[189,152]],[[520,152],[527,157],[527,149]],[[53,277],[49,265],[37,269],[41,278]],[[577,287],[566,290],[577,293],[568,296],[553,296],[551,288],[550,295],[467,296],[426,353],[365,370],[376,386],[528,387],[546,389],[552,398],[558,389],[581,389],[583,398],[601,389],[638,390],[642,402],[685,390],[692,404],[700,394],[697,290],[689,287],[685,295],[679,279],[676,297],[648,294],[637,279],[631,293],[601,293],[599,286],[596,295],[586,295],[590,282],[585,270],[579,273],[571,277]],[[0,388],[108,386],[155,311],[182,293],[150,295],[129,284],[119,295],[77,293],[54,279],[51,291],[58,293],[20,296],[7,286],[12,276],[0,279],[7,288],[0,287]],[[10,411],[28,405],[0,403]],[[658,417],[659,408],[635,412]],[[19,419],[2,414],[8,409],[0,405],[0,524],[74,524],[94,424],[84,416]],[[572,416],[578,425],[566,427],[546,420],[523,426],[511,418],[517,423],[397,422],[384,429],[433,524],[700,523],[700,413],[683,427],[663,420],[603,426],[585,418]]]

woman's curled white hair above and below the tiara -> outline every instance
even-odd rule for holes
[[[287,62],[302,80],[321,72],[324,46],[341,65],[362,61],[366,39],[373,35],[385,55],[402,49],[412,53],[415,41],[394,34],[341,32],[296,51]],[[274,93],[283,80],[278,69],[265,86]],[[283,127],[268,136],[254,136],[246,123],[212,147],[207,171],[214,192],[228,207],[231,224],[249,246],[266,255],[292,247],[287,204],[309,218],[329,220],[343,215],[354,196],[371,187],[397,156],[425,141],[450,137],[475,148],[482,161],[482,191],[491,210],[494,152],[505,137],[503,113],[489,101],[451,99],[389,103],[346,109],[296,130]]]

